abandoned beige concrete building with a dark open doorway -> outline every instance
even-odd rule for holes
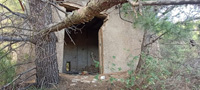
[[[71,14],[70,12],[85,6],[88,1],[67,0],[57,7]],[[54,7],[52,11],[53,23],[66,16]],[[121,16],[131,19],[123,14]],[[134,29],[131,23],[122,20],[119,9],[113,7],[100,13],[90,22],[56,32],[56,36],[60,73],[88,71],[91,74],[109,74],[130,69],[127,64],[134,56],[140,54],[143,31]],[[22,52],[27,53],[20,51],[20,54]],[[135,60],[134,67],[137,63]],[[96,65],[99,67],[95,67]]]

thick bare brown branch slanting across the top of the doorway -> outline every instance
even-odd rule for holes
[[[60,31],[74,24],[89,22],[100,12],[109,9],[114,5],[125,2],[126,0],[91,0],[87,6],[72,12],[72,14],[70,15],[67,15],[67,18],[65,18],[65,20],[47,29],[41,30],[41,32],[39,33],[43,33],[44,35],[46,35],[50,32]]]

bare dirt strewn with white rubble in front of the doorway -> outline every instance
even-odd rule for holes
[[[121,79],[128,77],[126,72],[104,75],[68,75],[60,74],[60,84],[55,90],[121,90],[125,85]],[[105,79],[104,79],[105,77]],[[111,77],[115,81],[111,83]]]

